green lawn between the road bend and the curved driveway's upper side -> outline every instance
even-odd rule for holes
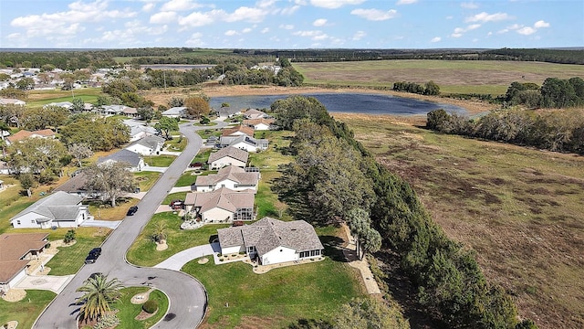
[[[158,251],[156,244],[148,238],[156,232],[156,226],[161,222],[166,225],[168,249]],[[209,243],[209,239],[217,234],[217,228],[229,227],[228,224],[212,224],[205,225],[203,228],[186,230],[181,229],[182,223],[183,219],[172,212],[155,214],[131,245],[126,258],[135,265],[154,266],[184,249]]]

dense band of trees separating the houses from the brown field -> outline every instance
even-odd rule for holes
[[[271,108],[276,124],[292,129],[295,160],[273,182],[295,218],[348,222],[364,249],[399,255],[418,290],[417,301],[449,328],[529,328],[506,292],[485,280],[473,251],[448,239],[412,187],[355,141],[313,98],[290,97]],[[369,225],[369,226],[368,226]]]

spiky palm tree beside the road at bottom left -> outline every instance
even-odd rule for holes
[[[123,288],[120,280],[111,279],[102,274],[90,277],[85,284],[77,289],[85,292],[78,297],[83,306],[79,310],[80,320],[94,320],[110,312],[110,304],[120,299],[120,289]]]

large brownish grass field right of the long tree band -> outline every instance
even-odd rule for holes
[[[412,184],[449,237],[540,328],[584,327],[584,157],[344,115],[378,161]]]

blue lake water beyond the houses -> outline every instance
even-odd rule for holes
[[[210,105],[219,109],[226,102],[235,109],[269,109],[274,101],[285,99],[290,95],[253,95],[212,97]],[[432,101],[413,100],[391,95],[365,93],[314,93],[302,96],[314,97],[329,112],[391,114],[391,115],[425,115],[429,111],[443,109],[449,113],[465,114],[462,107],[440,104]]]

